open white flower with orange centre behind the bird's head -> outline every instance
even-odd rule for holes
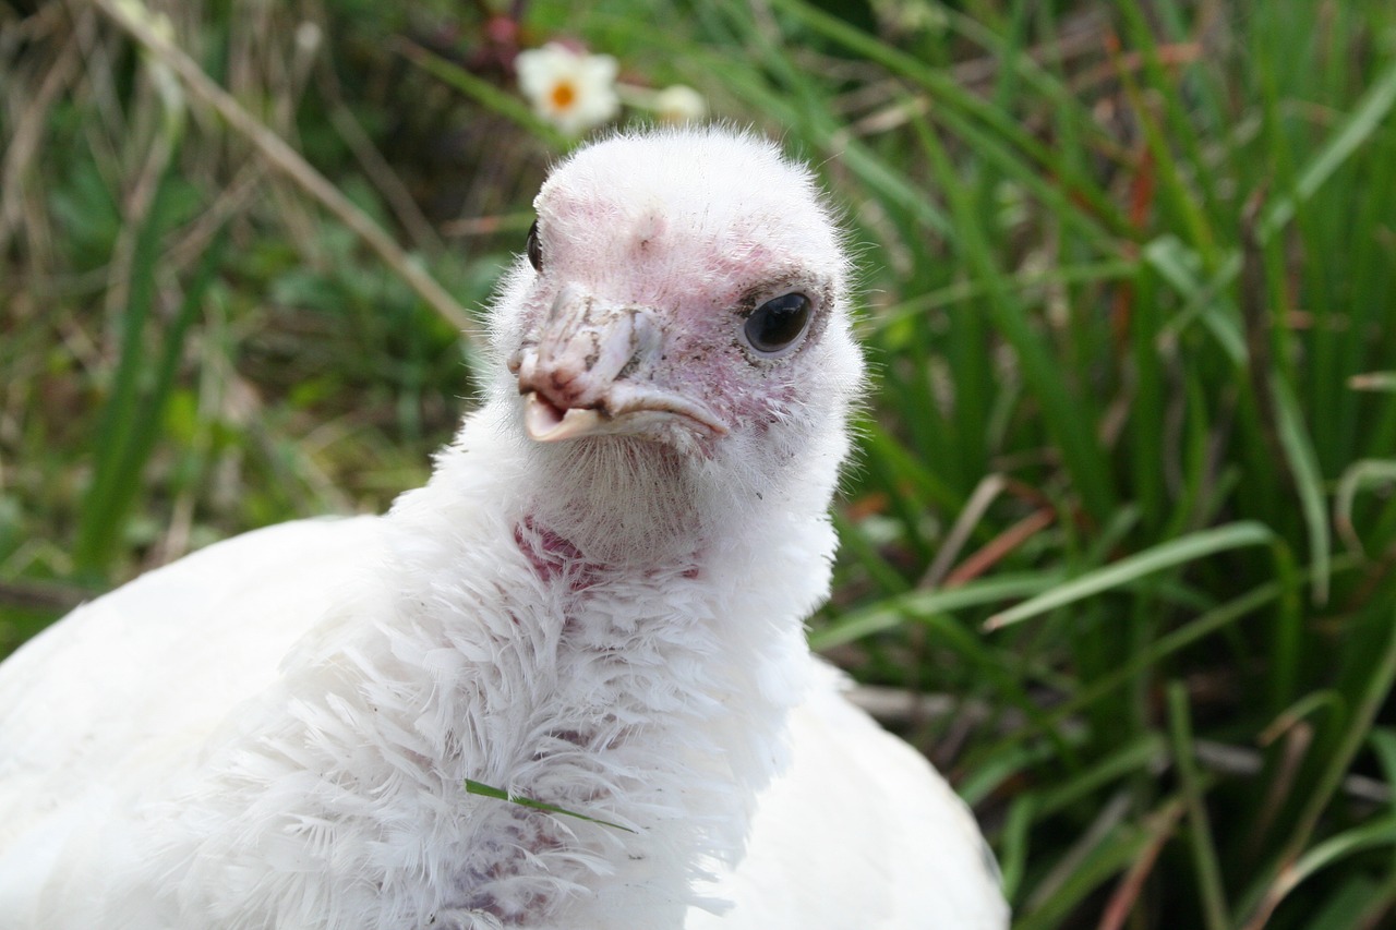
[[[557,42],[519,52],[519,89],[533,110],[568,135],[600,126],[620,113],[616,59],[585,54]]]

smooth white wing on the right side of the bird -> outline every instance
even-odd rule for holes
[[[819,663],[822,666],[822,663]],[[1004,930],[998,869],[965,803],[821,667],[790,715],[790,767],[757,799],[747,855],[685,930]]]

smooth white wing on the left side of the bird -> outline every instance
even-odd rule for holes
[[[35,906],[94,820],[197,755],[385,557],[376,517],[260,529],[78,607],[6,660],[0,926]]]

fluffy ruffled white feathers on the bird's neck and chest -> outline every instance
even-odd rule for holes
[[[159,920],[614,926],[624,894],[644,926],[678,926],[694,883],[740,856],[803,694],[799,616],[824,595],[826,524],[773,517],[715,538],[691,512],[651,539],[662,557],[597,559],[503,478],[522,464],[496,426],[472,420],[399,501],[384,564],[276,687],[142,792],[158,803],[131,806],[121,832],[161,876]],[[631,461],[614,500],[572,505],[602,503],[597,518],[625,526],[617,510],[653,468]],[[466,779],[614,825],[470,795]]]

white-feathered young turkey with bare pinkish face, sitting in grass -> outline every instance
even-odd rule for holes
[[[810,172],[618,135],[536,209],[426,487],[0,666],[0,927],[1007,926],[965,804],[804,642],[863,377]]]

